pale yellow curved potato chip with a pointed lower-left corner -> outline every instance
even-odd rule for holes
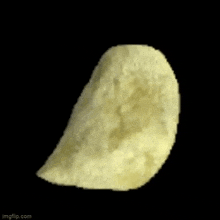
[[[58,185],[138,188],[168,157],[178,113],[177,80],[165,56],[146,45],[112,47],[38,176]]]

